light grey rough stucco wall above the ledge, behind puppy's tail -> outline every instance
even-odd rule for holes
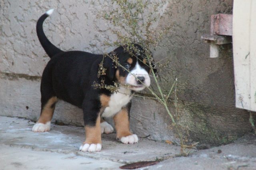
[[[50,41],[63,49],[93,53],[109,52],[104,41],[115,38],[107,22],[98,14],[108,4],[104,1],[26,1],[0,2],[1,72],[13,72],[41,76],[49,61],[36,36],[36,21],[47,10],[55,8],[54,14],[44,23]]]

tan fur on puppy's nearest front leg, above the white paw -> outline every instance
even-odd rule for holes
[[[84,144],[101,143],[100,115],[96,120],[95,126],[85,126],[84,129],[86,136]]]

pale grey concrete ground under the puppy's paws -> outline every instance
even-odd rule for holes
[[[256,135],[235,143],[205,150],[191,150],[178,156],[180,148],[164,141],[140,137],[139,143],[125,145],[115,134],[102,135],[102,151],[78,151],[84,128],[52,124],[50,132],[34,133],[34,122],[0,116],[0,170],[30,169],[119,169],[127,163],[162,160],[141,170],[256,170]]]

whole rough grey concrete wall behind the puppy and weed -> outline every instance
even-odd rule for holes
[[[46,10],[56,10],[44,23],[50,41],[64,51],[106,53],[113,49],[112,24],[101,12],[111,9],[102,0],[0,2],[0,115],[36,120],[40,112],[40,76],[49,61],[36,36],[36,21]],[[234,75],[231,45],[217,59],[209,58],[209,46],[201,35],[210,32],[212,14],[232,14],[232,0],[170,0],[161,6],[156,30],[171,25],[161,43],[150,49],[154,59],[168,58],[159,71],[164,90],[178,78],[178,107],[173,113],[187,143],[228,143],[251,131],[249,114],[234,105]],[[164,61],[165,63],[165,61]],[[174,99],[174,98],[173,98]],[[139,104],[143,104],[143,108]],[[26,107],[28,106],[28,107]],[[145,109],[146,108],[146,109]],[[60,102],[53,121],[82,125],[82,111]],[[177,140],[170,117],[154,100],[134,98],[131,128],[141,137]]]

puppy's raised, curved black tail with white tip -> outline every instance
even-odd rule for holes
[[[38,36],[38,39],[44,48],[44,51],[48,54],[50,58],[52,58],[54,55],[63,52],[62,50],[58,49],[55,45],[53,45],[44,34],[43,30],[43,23],[44,20],[52,14],[54,9],[48,10],[46,13],[44,13],[39,20],[36,23],[36,33]]]

